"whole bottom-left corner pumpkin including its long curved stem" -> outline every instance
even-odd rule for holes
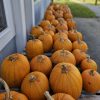
[[[4,85],[6,92],[0,93],[0,100],[28,100],[28,98],[22,94],[15,91],[10,91],[7,83],[0,78],[0,83]]]

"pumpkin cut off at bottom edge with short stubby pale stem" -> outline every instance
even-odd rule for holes
[[[47,100],[75,100],[71,95],[65,93],[56,93],[51,96],[49,92],[46,91],[45,96]]]

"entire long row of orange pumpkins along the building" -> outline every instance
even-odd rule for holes
[[[12,54],[1,64],[0,82],[6,93],[0,93],[0,100],[77,100],[82,89],[100,90],[97,64],[86,54],[88,46],[67,5],[48,6],[44,19],[32,27],[25,49],[27,57]],[[6,83],[21,93],[10,91]]]

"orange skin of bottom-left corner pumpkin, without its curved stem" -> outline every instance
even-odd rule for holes
[[[28,100],[28,98],[22,93],[11,91],[10,94],[12,96],[11,100]],[[1,93],[0,100],[5,100],[5,95],[6,95],[6,93]]]

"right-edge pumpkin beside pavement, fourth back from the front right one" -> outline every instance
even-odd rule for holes
[[[74,49],[80,49],[84,52],[88,50],[88,46],[84,41],[74,41],[73,42],[73,50]]]

